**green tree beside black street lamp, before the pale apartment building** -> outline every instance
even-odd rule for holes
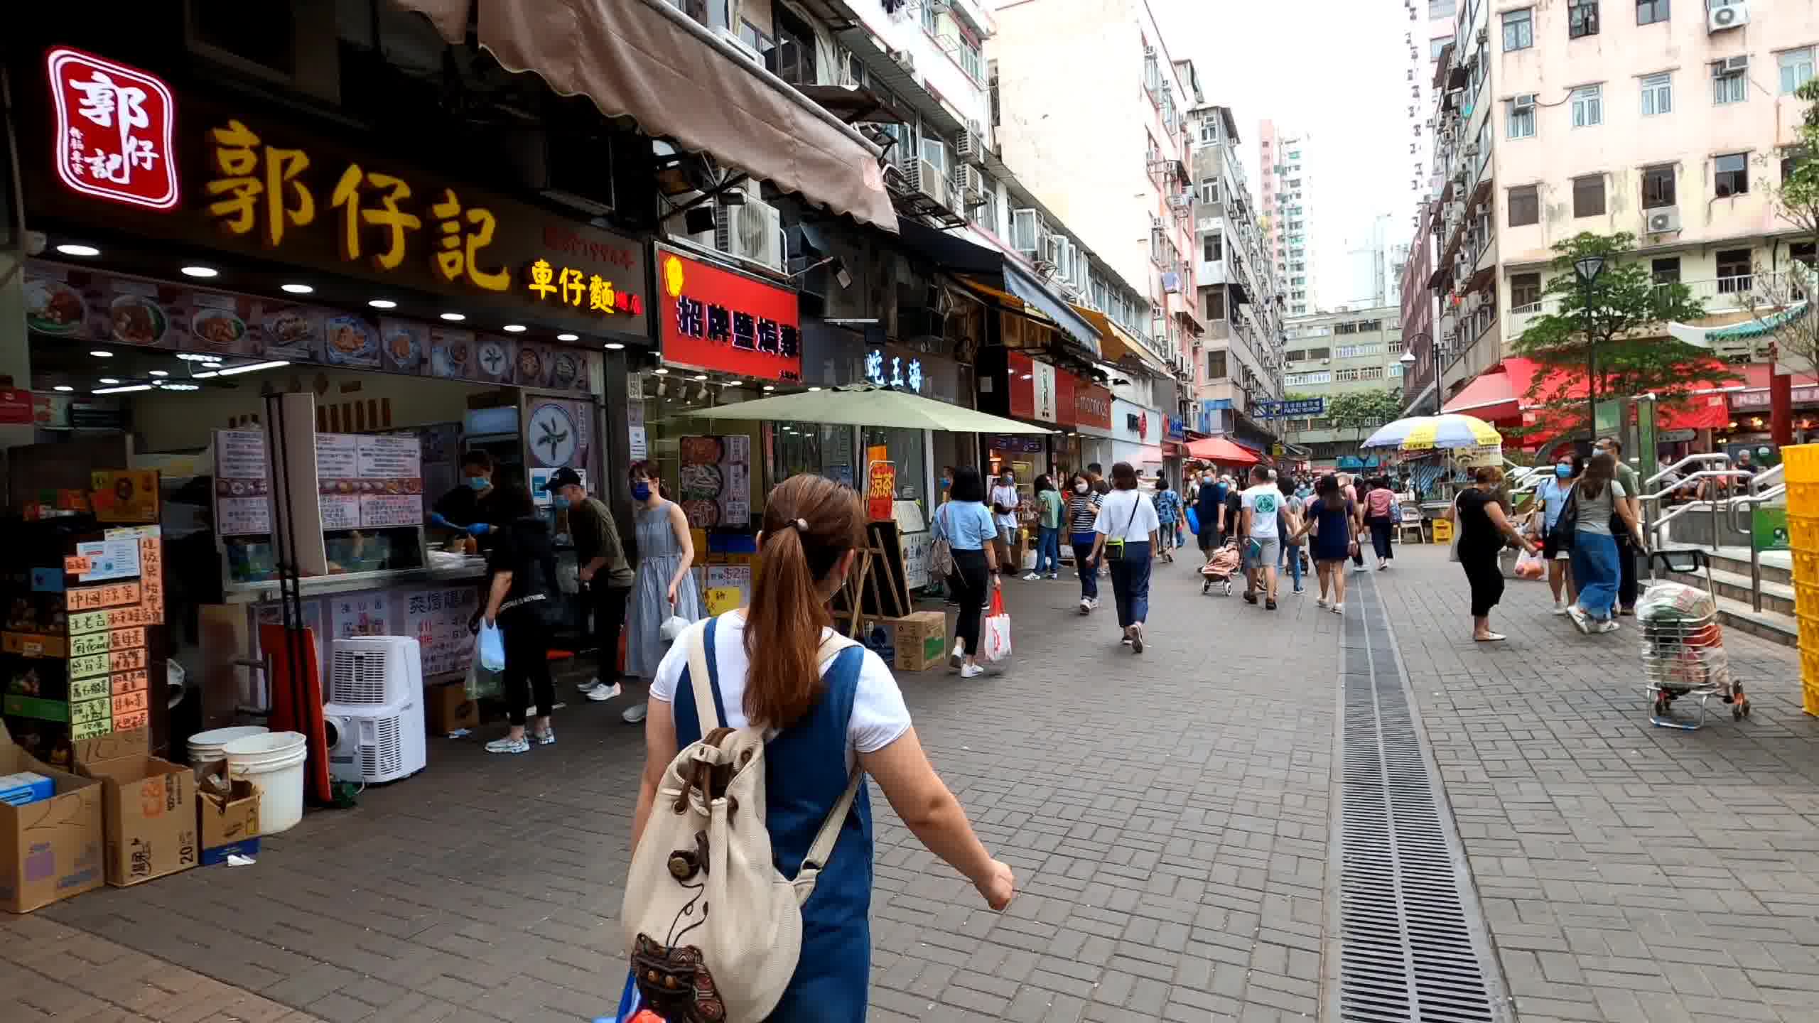
[[[1548,311],[1512,344],[1539,366],[1528,399],[1546,410],[1544,422],[1504,433],[1590,431],[1588,380],[1599,400],[1652,391],[1664,404],[1739,380],[1708,351],[1666,335],[1664,320],[1697,320],[1704,304],[1681,282],[1657,284],[1644,262],[1628,258],[1633,244],[1635,235],[1623,231],[1579,233],[1553,246],[1552,277],[1543,289]],[[1604,269],[1588,291],[1573,264],[1590,255],[1604,257]]]

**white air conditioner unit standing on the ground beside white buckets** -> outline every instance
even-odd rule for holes
[[[424,663],[417,639],[337,639],[322,723],[329,774],[340,781],[377,785],[424,770]]]

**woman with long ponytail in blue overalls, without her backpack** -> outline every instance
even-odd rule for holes
[[[897,679],[877,653],[831,628],[826,604],[851,572],[864,528],[859,495],[826,477],[795,475],[771,490],[751,606],[693,626],[706,630],[709,679],[689,677],[693,630],[657,668],[631,845],[644,836],[669,761],[702,737],[691,686],[706,683],[722,724],[768,734],[766,830],[784,877],[795,876],[848,777],[862,770],[922,845],[1002,910],[1011,901],[1011,868],[991,859],[930,766]],[[860,785],[815,894],[802,905],[802,954],[771,1019],[866,1018],[869,907],[871,801]]]

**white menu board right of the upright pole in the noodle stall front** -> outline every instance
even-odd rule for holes
[[[324,530],[418,526],[422,446],[417,437],[317,433],[317,491]]]

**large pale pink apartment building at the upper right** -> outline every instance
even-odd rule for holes
[[[1497,366],[1546,309],[1550,246],[1635,235],[1713,322],[1812,258],[1774,211],[1794,89],[1814,75],[1808,2],[1461,0],[1435,73],[1442,388]]]

